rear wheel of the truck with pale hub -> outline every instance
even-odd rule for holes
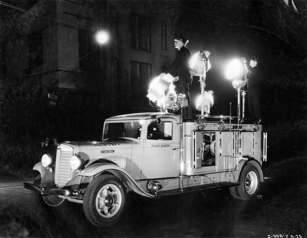
[[[256,196],[259,189],[259,173],[255,166],[246,165],[243,167],[239,178],[237,192],[242,200],[250,200]]]

